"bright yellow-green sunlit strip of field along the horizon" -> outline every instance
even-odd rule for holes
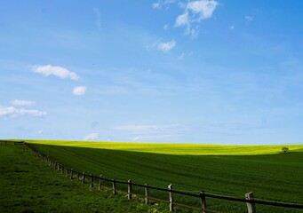
[[[125,142],[84,142],[67,140],[27,140],[30,143],[124,150],[153,154],[181,155],[253,155],[279,154],[283,145],[270,146],[227,146],[210,144],[156,144],[156,143],[125,143]],[[303,145],[286,145],[291,152],[303,152]]]

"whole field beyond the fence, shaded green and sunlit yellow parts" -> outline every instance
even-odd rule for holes
[[[159,145],[32,141],[44,153],[69,168],[118,180],[198,193],[303,203],[303,146]],[[119,187],[119,185],[118,185]],[[122,186],[121,186],[122,187]],[[137,189],[138,193],[142,193]],[[152,192],[155,196],[167,194]],[[184,197],[176,201],[195,204]],[[224,212],[245,212],[245,203],[208,199],[208,206]],[[258,212],[302,212],[257,206]]]

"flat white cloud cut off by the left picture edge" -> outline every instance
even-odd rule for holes
[[[44,116],[47,113],[36,109],[15,108],[13,106],[0,107],[0,116],[17,117],[19,115]]]

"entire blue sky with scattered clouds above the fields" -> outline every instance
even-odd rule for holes
[[[303,1],[0,3],[0,137],[303,143]]]

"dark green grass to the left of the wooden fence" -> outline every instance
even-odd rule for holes
[[[28,149],[0,143],[0,212],[157,212],[140,200],[90,190]],[[161,212],[166,210],[161,210]]]

